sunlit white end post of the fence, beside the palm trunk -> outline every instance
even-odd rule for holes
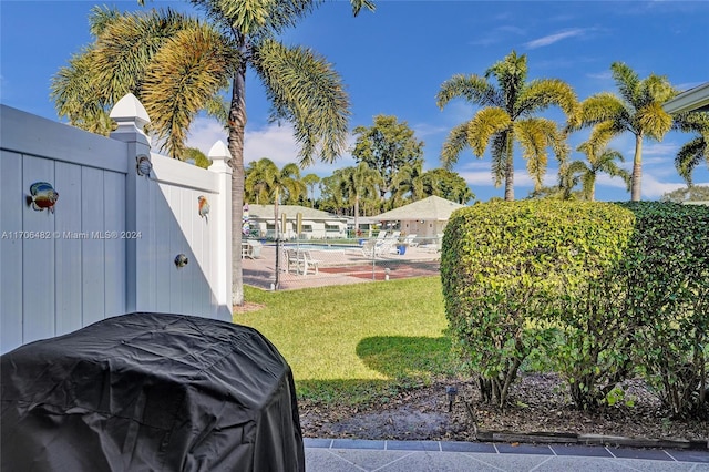
[[[229,148],[222,141],[214,143],[207,155],[212,160],[209,171],[219,174],[217,223],[217,289],[218,306],[228,307],[232,315],[232,167],[227,162],[232,158]],[[215,314],[218,315],[218,314]],[[222,318],[222,317],[219,317]]]

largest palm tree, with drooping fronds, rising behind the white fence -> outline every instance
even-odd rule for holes
[[[322,57],[277,40],[319,6],[320,0],[192,0],[191,3],[206,13],[207,22],[181,19],[176,23],[184,28],[166,28],[165,24],[173,24],[166,20],[175,13],[155,10],[145,16],[102,16],[92,28],[97,41],[74,58],[69,70],[60,72],[59,89],[71,84],[69,92],[53,93],[60,114],[74,121],[83,113],[84,93],[107,91],[110,100],[100,104],[110,106],[133,92],[157,120],[154,130],[168,150],[181,146],[184,142],[181,133],[188,130],[198,111],[207,110],[224,119],[233,170],[232,298],[234,304],[242,305],[238,226],[244,204],[246,71],[251,68],[264,84],[273,104],[271,119],[294,125],[301,165],[312,163],[316,156],[332,162],[345,150],[349,99],[339,75]],[[373,10],[369,0],[350,3],[354,16],[363,7]],[[83,81],[91,85],[84,86]],[[220,98],[225,90],[230,90],[226,106]],[[94,109],[93,112],[100,114]]]

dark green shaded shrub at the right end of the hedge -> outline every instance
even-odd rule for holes
[[[625,206],[637,219],[624,270],[640,370],[672,415],[707,418],[709,206]]]

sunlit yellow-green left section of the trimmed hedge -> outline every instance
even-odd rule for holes
[[[445,311],[485,400],[504,406],[522,361],[554,338],[564,300],[618,260],[630,222],[610,204],[559,201],[452,215],[441,256]]]

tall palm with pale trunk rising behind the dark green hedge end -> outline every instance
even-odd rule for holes
[[[602,92],[582,103],[580,126],[605,123],[612,136],[626,132],[635,135],[635,155],[630,199],[640,201],[643,176],[643,141],[661,141],[672,126],[672,117],[662,110],[662,103],[677,92],[666,78],[650,74],[640,80],[638,74],[621,62],[610,65],[613,79],[620,96]]]

